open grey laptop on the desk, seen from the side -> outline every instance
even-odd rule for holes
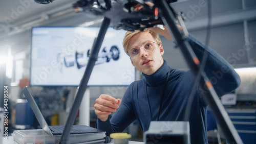
[[[33,110],[35,117],[36,117],[39,125],[41,126],[41,128],[45,132],[50,134],[51,136],[61,135],[65,126],[48,126],[44,116],[42,116],[42,113],[41,113],[40,109],[38,108],[32,94],[31,94],[29,88],[26,86],[22,91],[23,91],[31,109]],[[102,133],[105,135],[105,131],[101,131],[96,128],[92,128],[92,127],[85,126],[85,125],[73,125],[71,132],[70,132],[70,134],[102,134]]]

